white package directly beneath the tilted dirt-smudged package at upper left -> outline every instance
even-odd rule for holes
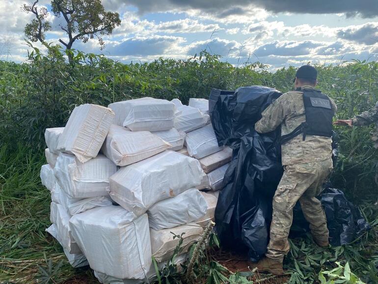
[[[117,166],[104,155],[81,163],[75,156],[60,153],[54,174],[60,187],[75,198],[107,196],[109,177]]]

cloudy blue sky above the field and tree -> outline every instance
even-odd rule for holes
[[[49,8],[49,0],[40,0]],[[23,29],[32,18],[25,0],[0,0],[0,59],[24,61]],[[122,20],[100,51],[95,40],[75,42],[84,52],[123,61],[188,58],[206,49],[234,65],[272,70],[307,62],[378,59],[378,0],[103,0]],[[49,16],[48,41],[65,35]],[[38,44],[36,44],[38,46]]]

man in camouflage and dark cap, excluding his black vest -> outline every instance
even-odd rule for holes
[[[292,133],[306,121],[303,103],[304,89],[314,89],[317,72],[305,65],[298,69],[295,91],[289,91],[275,100],[256,123],[255,130],[268,133],[281,125],[281,135]],[[330,99],[331,109],[337,108]],[[331,122],[330,122],[331,123]],[[260,271],[282,274],[284,255],[289,252],[288,235],[293,222],[293,207],[299,200],[314,241],[321,247],[328,246],[328,229],[320,194],[325,178],[332,170],[332,139],[307,135],[303,141],[298,135],[282,144],[284,173],[273,198],[273,215],[270,225],[270,242],[266,257],[257,264]]]

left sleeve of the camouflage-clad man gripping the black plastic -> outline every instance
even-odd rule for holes
[[[289,113],[290,104],[287,94],[280,96],[262,113],[263,117],[256,122],[255,130],[258,133],[268,133],[276,129]]]

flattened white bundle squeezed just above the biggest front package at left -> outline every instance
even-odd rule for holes
[[[111,200],[105,196],[84,199],[73,198],[62,190],[58,183],[55,183],[54,190],[51,192],[51,200],[63,205],[70,216],[98,206],[110,206],[112,204]]]

